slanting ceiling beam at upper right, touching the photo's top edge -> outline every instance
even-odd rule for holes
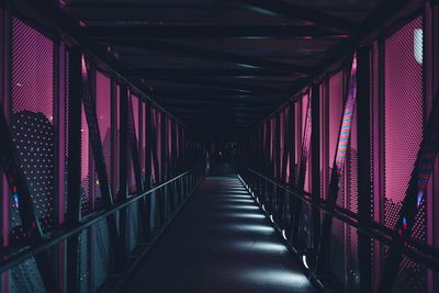
[[[283,16],[285,19],[308,21],[323,27],[336,29],[346,33],[354,33],[358,24],[331,14],[304,8],[284,0],[232,0],[239,2],[252,11]]]

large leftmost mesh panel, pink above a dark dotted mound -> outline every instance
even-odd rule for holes
[[[12,22],[12,114],[19,160],[42,227],[54,227],[54,44],[18,19]],[[18,199],[11,199],[18,209]],[[12,227],[19,225],[12,218]],[[15,232],[18,232],[15,229]],[[14,235],[20,238],[20,233]]]

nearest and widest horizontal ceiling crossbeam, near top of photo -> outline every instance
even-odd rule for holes
[[[144,38],[348,38],[340,34],[314,25],[103,25],[83,26],[82,32],[97,40],[144,40]]]

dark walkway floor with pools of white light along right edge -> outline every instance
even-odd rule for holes
[[[124,292],[314,292],[237,177],[210,177]]]

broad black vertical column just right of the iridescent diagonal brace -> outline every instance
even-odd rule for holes
[[[371,138],[370,138],[370,48],[361,47],[357,57],[357,134],[358,134],[358,218],[360,228],[368,229],[372,221]],[[360,290],[372,292],[371,238],[358,233]]]

